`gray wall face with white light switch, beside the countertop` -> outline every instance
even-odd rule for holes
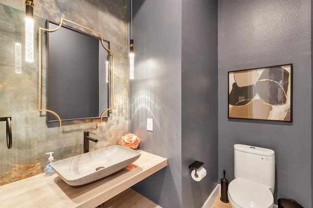
[[[130,81],[131,132],[140,149],[168,166],[134,188],[164,208],[181,207],[181,3],[134,0],[135,78]],[[147,131],[153,118],[153,132]]]

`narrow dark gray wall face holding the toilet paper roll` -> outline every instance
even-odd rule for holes
[[[182,1],[181,158],[182,207],[200,208],[218,179],[217,1]],[[188,166],[204,162],[206,176]]]

